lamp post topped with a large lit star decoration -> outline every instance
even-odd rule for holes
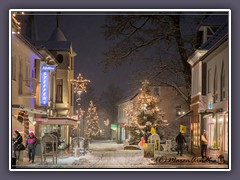
[[[87,92],[86,90],[86,85],[90,82],[90,80],[87,79],[83,79],[82,75],[79,73],[77,79],[72,79],[71,83],[73,84],[73,92],[77,93],[77,105],[80,106],[80,96],[83,92]],[[77,126],[77,144],[78,144],[78,148],[80,148],[80,144],[79,144],[79,129],[80,129],[80,116],[82,117],[84,111],[79,108],[79,110],[77,110],[77,118],[78,118],[78,126]]]

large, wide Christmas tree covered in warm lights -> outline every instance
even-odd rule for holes
[[[158,98],[151,95],[149,82],[142,82],[142,87],[132,107],[125,109],[129,120],[130,144],[137,144],[141,137],[147,141],[151,129],[162,136],[161,131],[168,125],[165,113],[158,108]]]

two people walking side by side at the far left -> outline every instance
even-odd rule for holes
[[[30,132],[26,140],[25,146],[23,145],[23,138],[21,134],[15,130],[13,135],[13,152],[16,160],[20,159],[20,151],[27,150],[29,162],[34,163],[35,150],[37,146],[37,138],[33,132]]]

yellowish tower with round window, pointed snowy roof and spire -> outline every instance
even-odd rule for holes
[[[72,42],[67,40],[59,27],[58,15],[56,28],[45,46],[58,63],[56,71],[52,74],[55,85],[51,92],[50,107],[53,112],[50,115],[53,117],[72,116],[74,114],[74,95],[71,80],[74,79],[74,57],[76,53],[72,48]]]

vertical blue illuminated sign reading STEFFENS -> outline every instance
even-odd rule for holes
[[[41,93],[40,93],[40,105],[48,106],[48,81],[49,81],[49,71],[41,70]]]

